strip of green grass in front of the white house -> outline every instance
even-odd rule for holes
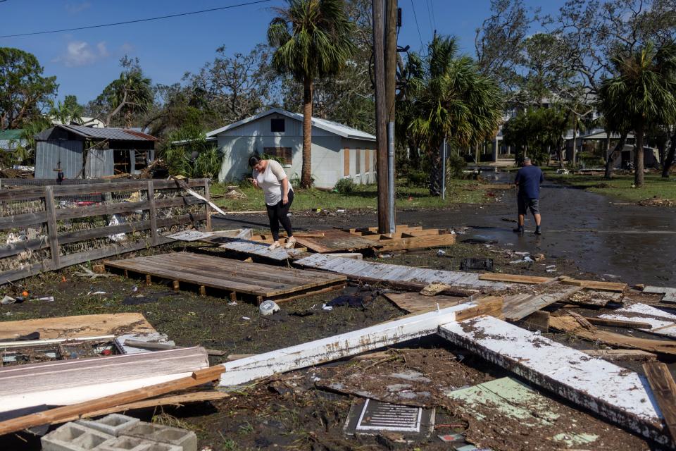
[[[227,185],[214,184],[211,194],[223,194]],[[493,198],[486,191],[476,190],[475,180],[452,180],[446,187],[446,200],[432,197],[427,188],[396,186],[398,209],[444,208],[453,204],[478,204]],[[246,199],[214,199],[215,204],[230,211],[258,211],[265,209],[263,192],[253,187],[240,188]],[[296,190],[293,209],[375,209],[377,207],[376,185],[359,185],[350,194],[323,190]]]

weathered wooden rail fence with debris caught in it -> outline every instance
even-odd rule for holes
[[[209,180],[183,180],[209,199]],[[211,230],[208,204],[173,180],[48,185],[0,191],[0,283]]]

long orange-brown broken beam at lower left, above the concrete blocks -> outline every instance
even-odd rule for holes
[[[107,409],[108,407],[146,400],[149,397],[156,397],[177,390],[196,387],[197,385],[215,381],[223,371],[225,371],[225,368],[222,365],[210,366],[205,369],[194,371],[190,376],[176,379],[175,381],[149,385],[143,388],[118,393],[114,396],[99,397],[78,404],[56,407],[55,409],[49,409],[44,412],[37,412],[35,414],[1,421],[0,435],[22,431],[23,429],[41,426],[42,424],[62,423],[65,419],[73,418],[73,416],[81,418],[83,415],[89,414],[89,412],[96,412]]]

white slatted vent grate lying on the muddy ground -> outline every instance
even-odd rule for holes
[[[356,431],[420,432],[423,409],[366,400]]]

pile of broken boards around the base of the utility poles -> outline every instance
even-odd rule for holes
[[[421,226],[396,226],[392,234],[378,233],[375,227],[350,228],[344,231],[371,240],[379,252],[427,249],[451,246],[456,243],[456,235],[450,230],[423,229]]]

